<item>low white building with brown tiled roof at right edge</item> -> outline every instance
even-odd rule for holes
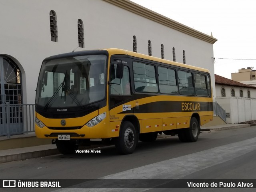
[[[227,123],[256,119],[256,87],[215,75],[215,101],[226,111]]]

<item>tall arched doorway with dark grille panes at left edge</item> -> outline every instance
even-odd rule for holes
[[[10,58],[0,55],[0,135],[22,133],[21,72]],[[8,106],[10,104],[10,106]]]

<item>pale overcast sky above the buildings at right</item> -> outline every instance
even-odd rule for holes
[[[243,67],[256,69],[255,0],[131,0],[211,35],[215,74],[231,79]],[[223,59],[217,59],[223,58]]]

